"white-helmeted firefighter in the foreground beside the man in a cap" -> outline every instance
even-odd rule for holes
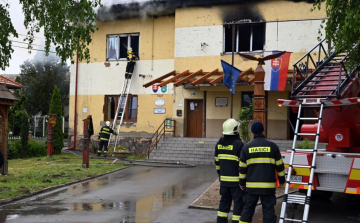
[[[240,123],[228,119],[223,124],[223,137],[215,146],[215,165],[220,179],[220,205],[217,223],[227,223],[234,200],[232,222],[239,222],[243,209],[243,191],[239,184],[239,158],[244,143],[239,136]]]

